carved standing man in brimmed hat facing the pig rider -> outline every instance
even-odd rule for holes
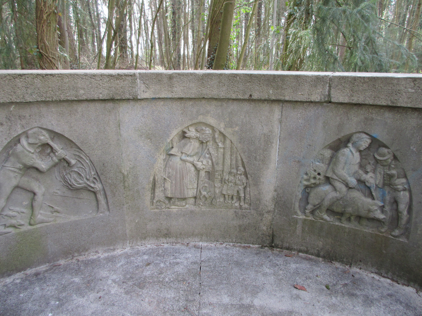
[[[386,220],[378,230],[385,233],[391,220],[394,202],[397,203],[398,226],[391,235],[398,237],[404,233],[409,216],[410,203],[409,182],[403,168],[397,166],[391,149],[379,147],[374,154],[377,164],[375,167],[375,184],[378,187],[376,195],[378,201],[384,203],[383,213]]]

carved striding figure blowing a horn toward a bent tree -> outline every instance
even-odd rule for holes
[[[35,154],[38,147],[44,144],[49,144],[55,152],[50,153],[51,160],[47,162],[41,161]],[[6,161],[0,167],[0,214],[12,190],[15,187],[21,187],[35,194],[32,199],[32,215],[29,225],[52,222],[54,218],[40,215],[44,187],[36,180],[25,176],[24,173],[31,167],[46,172],[63,158],[68,161],[69,165],[75,163],[67,157],[66,152],[60,146],[51,141],[47,131],[35,127],[22,135],[19,143],[12,147]]]

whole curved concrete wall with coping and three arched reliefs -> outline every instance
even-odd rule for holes
[[[422,75],[0,71],[0,91],[2,275],[219,241],[422,286]]]

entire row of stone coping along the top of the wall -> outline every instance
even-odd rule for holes
[[[422,75],[288,71],[0,70],[0,103],[211,98],[422,107]]]

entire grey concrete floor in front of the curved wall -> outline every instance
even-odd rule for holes
[[[89,254],[0,279],[0,315],[421,316],[420,295],[304,254],[165,244]]]

